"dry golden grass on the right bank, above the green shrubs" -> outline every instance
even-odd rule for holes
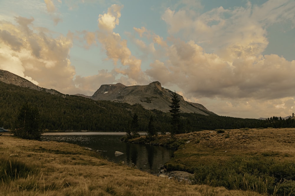
[[[295,128],[224,130],[224,133],[204,130],[179,134],[176,138],[185,143],[169,162],[182,164],[187,170],[238,155],[264,155],[276,160],[294,160],[295,156]]]

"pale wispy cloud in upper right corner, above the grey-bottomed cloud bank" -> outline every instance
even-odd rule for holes
[[[180,33],[209,48],[209,52],[232,60],[262,53],[268,45],[266,27],[284,20],[294,22],[294,13],[294,1],[286,0],[267,1],[261,6],[248,2],[246,7],[219,7],[202,14],[168,8],[162,19],[169,33]]]

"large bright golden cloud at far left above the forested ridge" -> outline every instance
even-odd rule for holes
[[[72,41],[62,35],[53,38],[42,31],[33,32],[33,18],[15,19],[18,25],[0,21],[0,68],[45,88],[63,91],[73,86],[75,68],[68,58]]]

